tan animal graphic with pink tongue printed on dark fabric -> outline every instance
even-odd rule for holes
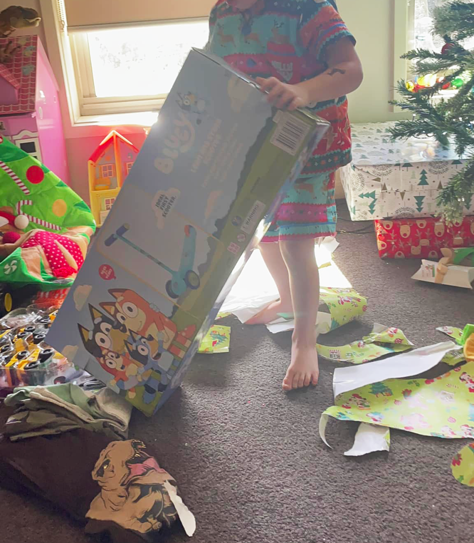
[[[114,522],[139,534],[156,534],[177,520],[164,487],[176,481],[146,453],[142,441],[112,441],[97,460],[92,478],[100,487],[86,514],[88,519]]]

